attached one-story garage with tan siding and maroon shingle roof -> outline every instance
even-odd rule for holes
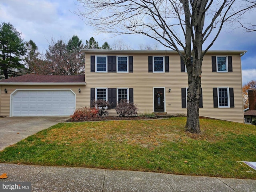
[[[0,116],[70,116],[85,106],[84,75],[23,75],[0,80]]]

